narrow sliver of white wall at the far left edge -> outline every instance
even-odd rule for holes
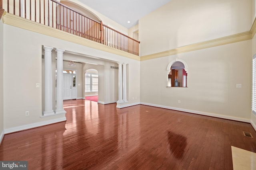
[[[0,143],[4,135],[4,24],[0,20]]]

